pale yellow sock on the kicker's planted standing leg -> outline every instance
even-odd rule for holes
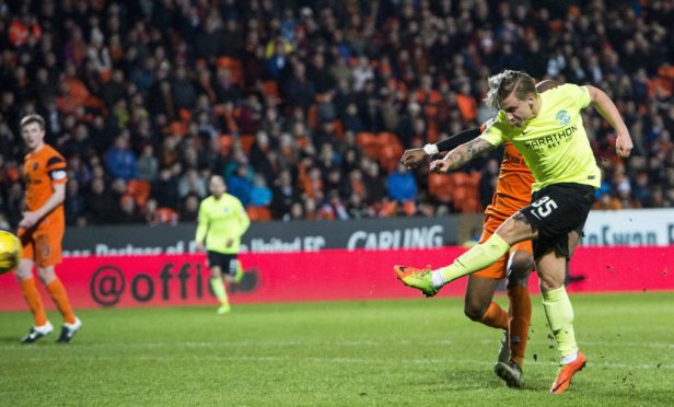
[[[567,290],[560,287],[556,290],[543,292],[543,307],[562,360],[576,354],[578,345],[573,333],[573,307],[569,295],[567,295]]]

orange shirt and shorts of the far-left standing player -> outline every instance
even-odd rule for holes
[[[23,162],[26,185],[27,211],[39,209],[54,194],[54,184],[66,184],[66,160],[48,144],[37,152],[26,154]],[[53,266],[61,260],[61,241],[66,228],[63,203],[45,214],[28,230],[20,229],[23,242],[23,258],[34,259],[37,266]]]

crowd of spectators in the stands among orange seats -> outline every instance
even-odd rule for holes
[[[210,174],[253,220],[479,212],[500,151],[452,175],[398,159],[491,117],[503,69],[615,101],[635,150],[585,115],[596,208],[672,207],[672,21],[658,0],[0,0],[0,228],[30,113],[68,159],[68,224],[194,221]]]

